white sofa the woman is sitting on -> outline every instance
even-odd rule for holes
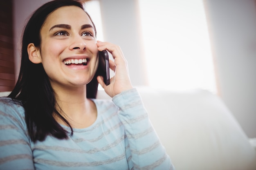
[[[177,170],[256,170],[256,140],[219,97],[204,90],[137,89]],[[104,91],[97,98],[111,99]]]

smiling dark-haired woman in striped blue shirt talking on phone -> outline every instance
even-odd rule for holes
[[[98,51],[115,76],[98,76]],[[112,101],[95,99],[101,84]],[[18,82],[0,102],[0,170],[173,169],[119,48],[96,40],[83,5],[54,0],[25,27]]]

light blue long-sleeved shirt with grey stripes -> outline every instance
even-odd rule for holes
[[[0,170],[174,169],[135,88],[112,101],[92,100],[98,114],[90,127],[34,143],[23,107],[0,99]]]

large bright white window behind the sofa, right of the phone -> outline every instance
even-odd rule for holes
[[[150,86],[216,93],[202,0],[138,1]]]

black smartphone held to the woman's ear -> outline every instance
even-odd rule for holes
[[[99,75],[103,76],[104,83],[110,84],[108,51],[99,51]]]

